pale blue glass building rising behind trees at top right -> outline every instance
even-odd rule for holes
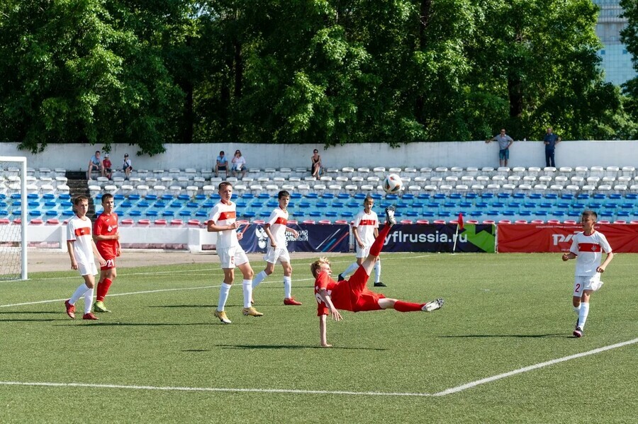
[[[637,76],[632,67],[632,55],[620,42],[620,31],[627,25],[627,18],[620,17],[622,13],[620,0],[593,0],[593,2],[600,7],[596,34],[605,45],[598,51],[598,55],[603,59],[605,81],[616,85],[623,84]]]

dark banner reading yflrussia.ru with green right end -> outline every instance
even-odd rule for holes
[[[454,224],[397,224],[386,239],[385,252],[495,251],[496,227],[493,224],[465,224],[456,235]]]

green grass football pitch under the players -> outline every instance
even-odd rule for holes
[[[335,274],[352,258],[333,258]],[[574,262],[559,254],[381,258],[379,291],[445,306],[345,312],[328,323],[331,349],[318,347],[307,259],[293,260],[303,306],[283,306],[279,267],[254,292],[262,317],[241,316],[233,287],[230,326],[213,317],[217,263],[120,268],[113,313],[92,322],[64,311],[77,273],[0,282],[0,422],[636,422],[636,256],[610,264],[581,339]]]

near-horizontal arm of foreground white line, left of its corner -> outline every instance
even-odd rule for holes
[[[219,387],[124,386],[121,384],[0,382],[4,386],[91,387],[98,389],[133,389],[165,391],[233,391],[248,393],[344,394],[354,396],[432,396],[428,393],[383,393],[379,391],[295,390],[295,389],[224,389]]]

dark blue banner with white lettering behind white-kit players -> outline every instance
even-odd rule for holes
[[[350,228],[347,224],[289,224],[299,236],[286,233],[289,252],[342,252],[349,251]],[[240,245],[246,253],[266,253],[270,243],[266,231],[260,224],[242,225],[238,232],[243,233]]]

